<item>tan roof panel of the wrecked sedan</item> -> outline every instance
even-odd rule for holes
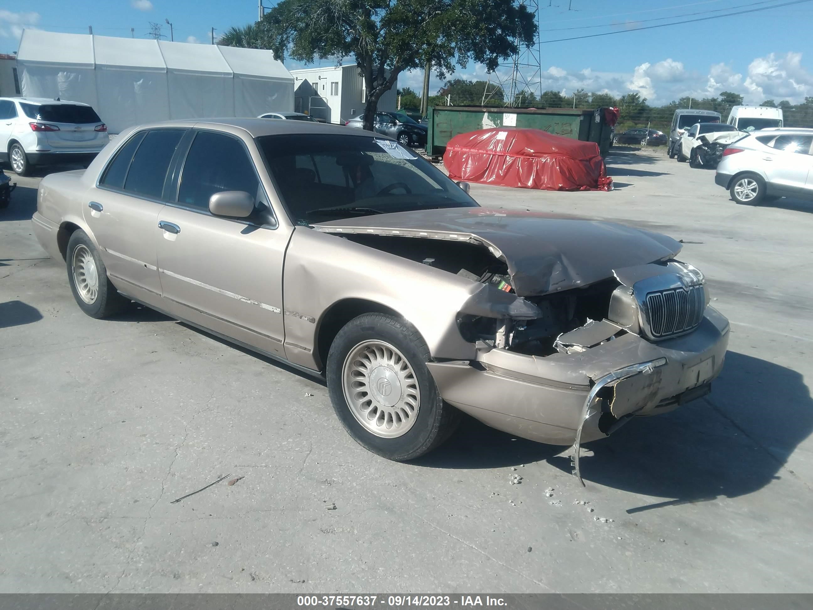
[[[333,133],[355,137],[377,137],[379,139],[387,137],[380,133],[367,132],[363,129],[346,129],[344,125],[314,123],[309,120],[267,120],[235,118],[233,116],[224,119],[165,120],[159,123],[138,125],[134,129],[158,129],[162,127],[183,127],[186,129],[193,127],[207,129],[208,127],[210,129],[226,132],[234,132],[235,129],[242,129],[251,137],[274,136],[289,133],[315,133],[322,135]]]

